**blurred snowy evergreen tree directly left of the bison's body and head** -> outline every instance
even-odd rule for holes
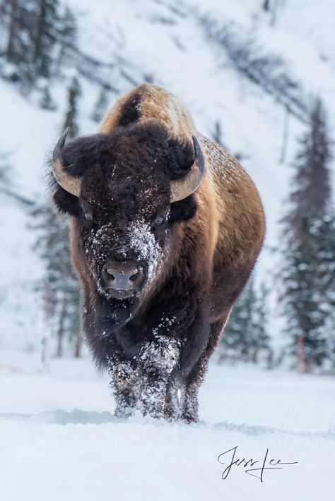
[[[71,266],[69,229],[64,219],[57,219],[52,207],[39,212],[39,238],[36,243],[45,263],[43,291],[45,316],[55,341],[54,354],[64,354],[64,344],[74,356],[80,355],[81,320],[79,284]]]

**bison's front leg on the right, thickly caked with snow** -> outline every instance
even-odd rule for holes
[[[169,418],[175,416],[172,406],[172,372],[180,361],[180,342],[164,335],[156,335],[143,346],[140,356],[142,387],[139,409],[143,416]]]

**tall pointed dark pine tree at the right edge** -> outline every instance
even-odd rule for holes
[[[335,217],[331,208],[329,138],[317,99],[295,159],[290,212],[283,219],[283,302],[289,353],[300,370],[331,358],[335,306]]]

